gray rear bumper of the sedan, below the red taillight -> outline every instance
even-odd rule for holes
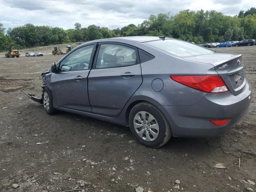
[[[252,88],[234,96],[230,92],[208,94],[200,102],[189,106],[158,106],[164,112],[176,137],[217,137],[240,122],[249,110]],[[230,119],[224,126],[210,120]]]

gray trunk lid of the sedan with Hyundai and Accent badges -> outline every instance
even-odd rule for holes
[[[205,54],[186,57],[186,60],[212,64],[233,95],[240,94],[246,85],[242,55]]]

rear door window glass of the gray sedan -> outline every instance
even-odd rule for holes
[[[101,44],[96,68],[130,66],[136,64],[136,58],[136,51],[133,48],[115,44]]]

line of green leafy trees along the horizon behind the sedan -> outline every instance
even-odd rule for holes
[[[162,35],[182,40],[190,39],[197,44],[244,38],[256,39],[256,8],[241,10],[236,16],[226,16],[214,10],[182,10],[174,16],[170,13],[160,13],[157,16],[150,15],[148,20],[144,20],[138,26],[129,24],[121,29],[96,25],[84,28],[80,23],[75,23],[74,29],[68,30],[33,24],[6,30],[0,23],[0,50],[6,50],[8,46],[20,49],[120,36]]]

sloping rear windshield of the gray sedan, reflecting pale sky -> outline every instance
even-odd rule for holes
[[[177,39],[166,39],[166,40],[157,40],[145,42],[149,46],[152,46],[156,49],[162,50],[164,52],[170,53],[178,57],[189,57],[201,54],[213,53],[214,51],[207,48],[203,48],[196,44],[185,42]]]

